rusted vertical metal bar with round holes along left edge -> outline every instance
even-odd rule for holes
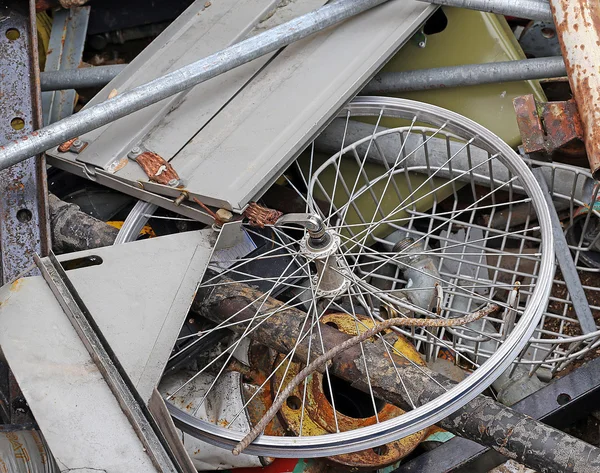
[[[40,127],[39,71],[35,8],[8,2],[0,9],[0,141],[27,139]],[[40,157],[0,172],[0,244],[4,282],[33,264],[33,254],[49,249],[46,170]]]

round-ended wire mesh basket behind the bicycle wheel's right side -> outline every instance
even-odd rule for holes
[[[475,146],[476,139],[428,127],[377,129],[322,164],[312,179],[312,200],[329,206],[327,223],[345,240],[346,258],[379,291],[421,302],[431,297],[444,318],[500,302],[500,312],[469,326],[401,330],[429,360],[446,356],[464,364],[468,358],[478,366],[510,334],[537,283],[541,236],[532,200],[520,178]],[[600,264],[590,268],[581,257],[600,239],[593,232],[598,213],[588,212],[598,192],[594,181],[581,168],[527,162],[542,167],[566,226],[578,225],[570,248],[592,311],[600,314],[600,288],[585,284]],[[393,243],[407,237],[409,247],[419,249],[410,266],[420,258],[435,266],[433,273],[407,277],[405,250],[390,261]],[[360,250],[361,243],[372,250]],[[600,331],[582,334],[557,272],[548,306],[515,363],[549,377],[599,344]]]

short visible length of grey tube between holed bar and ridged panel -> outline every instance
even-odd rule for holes
[[[111,66],[42,72],[40,85],[42,91],[104,87],[125,67],[127,67],[127,64],[114,64]]]

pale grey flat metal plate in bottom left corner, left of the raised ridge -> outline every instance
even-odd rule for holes
[[[61,470],[157,471],[45,281],[18,284],[0,344]]]

